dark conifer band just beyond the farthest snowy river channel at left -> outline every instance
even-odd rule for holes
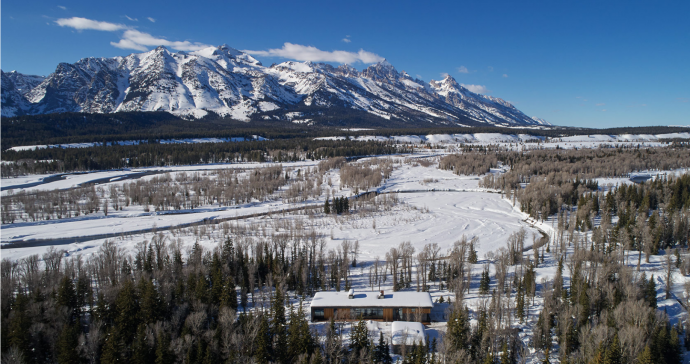
[[[2,176],[237,162],[285,162],[406,151],[384,142],[280,139],[198,144],[139,144],[4,151]]]

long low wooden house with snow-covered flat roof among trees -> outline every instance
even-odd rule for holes
[[[417,321],[429,323],[434,306],[429,292],[317,292],[311,320]]]

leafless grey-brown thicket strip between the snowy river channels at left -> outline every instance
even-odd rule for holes
[[[289,180],[282,166],[274,165],[248,170],[181,172],[174,177],[165,173],[122,185],[111,184],[108,188],[91,185],[68,190],[20,191],[3,197],[2,223],[72,218],[98,211],[107,216],[128,206],[143,206],[144,212],[232,206],[265,201]],[[298,186],[300,182],[296,182]],[[320,195],[320,188],[317,191]],[[288,189],[285,198],[296,198],[306,192],[311,190]]]

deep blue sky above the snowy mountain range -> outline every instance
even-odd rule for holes
[[[47,75],[59,62],[153,44],[227,43],[263,51],[265,65],[285,60],[266,54],[307,57],[307,46],[364,50],[345,58],[358,69],[386,58],[425,81],[447,73],[557,125],[690,125],[688,14],[686,0],[15,0],[2,4],[2,69]],[[268,52],[285,43],[304,47]]]

